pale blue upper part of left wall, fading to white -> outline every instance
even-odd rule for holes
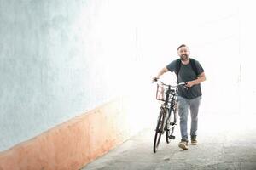
[[[0,151],[119,95],[136,26],[113,2],[0,0]]]

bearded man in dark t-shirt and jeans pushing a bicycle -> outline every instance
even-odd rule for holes
[[[188,88],[180,87],[177,95],[178,114],[180,116],[181,142],[178,147],[188,150],[188,113],[191,115],[190,139],[191,144],[197,144],[197,122],[198,110],[201,101],[201,82],[206,80],[205,72],[201,64],[189,58],[189,48],[182,44],[177,48],[180,59],[172,61],[169,65],[162,68],[154,81],[160,78],[167,71],[174,71],[177,75],[177,82],[186,82]]]

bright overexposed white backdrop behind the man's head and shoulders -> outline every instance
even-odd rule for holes
[[[255,112],[253,5],[244,1],[147,1],[139,25],[141,59],[152,76],[181,43],[204,67],[201,112]],[[145,2],[146,3],[146,2]],[[146,14],[145,14],[146,13]],[[249,82],[249,83],[248,83]],[[248,87],[248,84],[250,86]],[[241,108],[242,107],[242,108]],[[243,113],[244,114],[244,113]]]

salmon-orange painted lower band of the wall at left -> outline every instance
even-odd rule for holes
[[[0,170],[77,170],[135,133],[115,99],[0,153]],[[129,120],[129,119],[128,119]],[[131,119],[130,119],[131,120]]]

